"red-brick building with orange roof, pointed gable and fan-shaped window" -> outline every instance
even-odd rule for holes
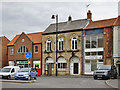
[[[42,32],[30,34],[22,32],[22,34],[16,35],[7,46],[9,65],[28,67],[25,52],[31,52],[29,65],[41,68]]]

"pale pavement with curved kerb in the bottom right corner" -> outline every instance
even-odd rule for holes
[[[120,79],[109,79],[105,83],[111,88],[117,88],[120,90]]]

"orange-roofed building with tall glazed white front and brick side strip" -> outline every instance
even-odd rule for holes
[[[114,64],[113,31],[116,20],[91,21],[85,28],[84,74],[92,74],[102,64]]]

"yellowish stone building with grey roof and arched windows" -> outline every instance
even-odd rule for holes
[[[72,20],[58,23],[57,63],[56,63],[56,30],[55,24],[51,24],[43,32],[42,42],[42,74],[47,70],[52,75],[80,75],[83,71],[83,29],[89,23],[91,13],[87,13],[87,19]],[[48,69],[49,67],[49,69]],[[51,69],[50,69],[51,68]]]

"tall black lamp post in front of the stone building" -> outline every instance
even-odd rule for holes
[[[58,14],[52,15],[51,19],[56,19],[56,76],[57,76],[57,38],[58,38]]]

